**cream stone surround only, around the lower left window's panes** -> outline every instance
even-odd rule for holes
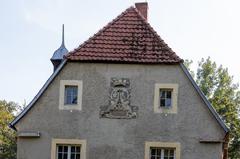
[[[81,159],[86,159],[86,140],[79,139],[52,139],[51,146],[51,159],[56,159],[57,144],[66,144],[66,145],[80,145],[81,146]]]

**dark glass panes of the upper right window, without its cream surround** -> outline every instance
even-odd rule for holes
[[[160,107],[172,106],[172,89],[160,89]]]

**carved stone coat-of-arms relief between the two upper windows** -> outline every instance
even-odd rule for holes
[[[136,118],[138,108],[130,105],[130,80],[128,78],[112,78],[110,87],[109,104],[100,107],[100,117]]]

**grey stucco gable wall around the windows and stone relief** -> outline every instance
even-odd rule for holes
[[[136,119],[100,118],[108,104],[112,77],[129,78]],[[81,110],[59,109],[60,80],[82,81]],[[178,84],[177,113],[154,112],[155,84]],[[181,159],[220,159],[225,131],[207,108],[179,64],[104,64],[67,62],[28,113],[18,132],[39,131],[39,138],[18,138],[18,159],[51,159],[53,139],[86,141],[87,159],[144,159],[146,142],[180,144]]]

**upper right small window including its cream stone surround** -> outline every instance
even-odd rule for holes
[[[177,113],[178,84],[155,84],[154,112]]]

